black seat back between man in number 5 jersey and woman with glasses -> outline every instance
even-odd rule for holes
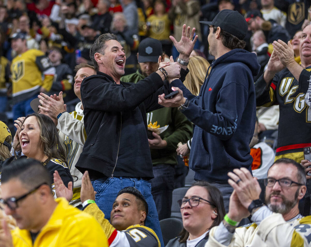
[[[183,222],[176,218],[168,218],[160,220],[160,227],[164,245],[167,245],[169,240],[177,237],[183,230]]]

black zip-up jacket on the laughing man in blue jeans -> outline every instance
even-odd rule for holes
[[[87,138],[77,169],[92,170],[97,178],[153,178],[146,111],[161,108],[158,95],[171,91],[164,84],[156,72],[136,84],[118,85],[102,72],[85,78],[81,100]]]

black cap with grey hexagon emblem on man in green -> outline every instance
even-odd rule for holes
[[[143,39],[138,46],[138,63],[158,62],[162,53],[162,44],[159,40]]]

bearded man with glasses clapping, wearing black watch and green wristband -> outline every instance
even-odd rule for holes
[[[306,192],[303,167],[288,158],[276,160],[269,168],[265,204],[259,199],[260,185],[244,167],[229,172],[234,188],[229,212],[209,233],[205,246],[309,246],[311,216],[302,217],[298,203]],[[236,228],[251,215],[253,223]]]

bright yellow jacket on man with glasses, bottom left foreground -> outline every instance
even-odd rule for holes
[[[65,198],[55,201],[58,206],[34,244],[28,230],[16,228],[12,231],[14,247],[108,247],[106,235],[94,217],[70,206]]]

